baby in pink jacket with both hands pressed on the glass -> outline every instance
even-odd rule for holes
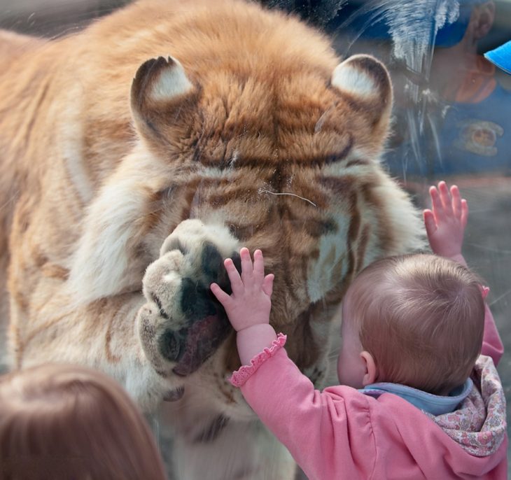
[[[370,264],[344,297],[341,385],[315,390],[269,325],[273,275],[242,248],[232,295],[211,290],[237,331],[232,383],[309,480],[506,479],[503,353],[487,289],[461,255],[468,206],[430,188],[424,211],[436,255]]]

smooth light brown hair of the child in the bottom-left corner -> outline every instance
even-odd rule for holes
[[[0,479],[164,480],[146,421],[113,379],[41,365],[0,378]]]

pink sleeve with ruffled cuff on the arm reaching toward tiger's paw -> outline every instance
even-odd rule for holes
[[[281,338],[232,382],[309,479],[369,478],[376,451],[367,397],[345,386],[315,390]]]

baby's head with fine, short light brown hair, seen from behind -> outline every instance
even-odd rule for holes
[[[385,381],[444,395],[481,351],[480,280],[436,255],[370,264],[346,292],[342,317],[339,380],[355,388]]]

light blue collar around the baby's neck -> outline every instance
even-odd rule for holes
[[[374,398],[382,393],[393,393],[428,414],[442,415],[456,410],[456,407],[468,396],[472,386],[472,380],[467,379],[463,385],[454,388],[449,395],[433,395],[399,383],[386,382],[372,383],[358,391]]]

